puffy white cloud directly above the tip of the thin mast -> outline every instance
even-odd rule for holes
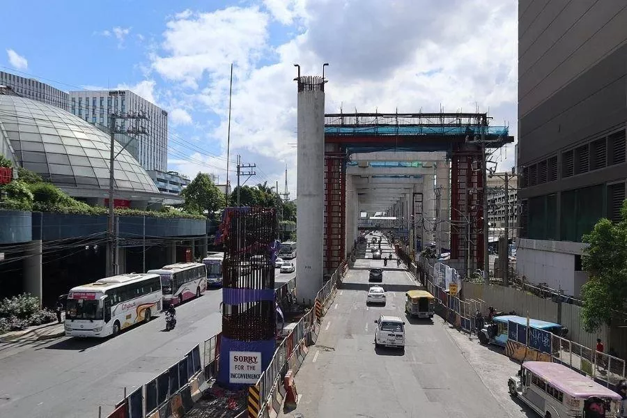
[[[267,25],[268,15],[258,8],[180,13],[167,23],[162,44],[167,55],[153,55],[153,68],[191,87],[206,74],[229,75],[231,63],[247,73],[266,46]]]

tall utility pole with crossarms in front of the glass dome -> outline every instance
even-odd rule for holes
[[[136,137],[133,137],[130,141],[128,141],[125,146],[121,148],[116,154],[115,144],[116,144],[116,134],[127,134],[127,135],[139,135],[139,134],[148,134],[146,131],[146,127],[140,126],[138,123],[133,123],[132,127],[128,127],[126,130],[122,128],[118,128],[117,121],[118,119],[122,119],[123,121],[140,121],[140,120],[148,120],[148,116],[144,114],[143,111],[138,112],[130,112],[130,113],[121,113],[118,111],[114,111],[111,115],[109,115],[109,130],[111,134],[109,147],[109,276],[116,276],[119,274],[119,265],[118,265],[118,233],[116,231],[116,222],[115,222],[115,206],[114,206],[114,184],[115,184],[115,176],[114,176],[114,162],[116,157],[120,155],[120,153],[125,150],[127,146],[133,141]]]

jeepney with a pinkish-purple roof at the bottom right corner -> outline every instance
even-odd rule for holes
[[[507,385],[541,417],[619,417],[619,394],[563,364],[524,362]]]

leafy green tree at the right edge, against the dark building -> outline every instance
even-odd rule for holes
[[[581,288],[581,318],[587,332],[610,325],[614,311],[623,311],[627,300],[627,200],[617,224],[601,219],[591,233],[583,236],[589,247],[582,266],[589,281]]]

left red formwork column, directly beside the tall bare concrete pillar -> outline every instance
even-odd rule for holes
[[[344,222],[346,205],[346,171],[344,153],[325,152],[325,274],[334,272],[346,252]]]

